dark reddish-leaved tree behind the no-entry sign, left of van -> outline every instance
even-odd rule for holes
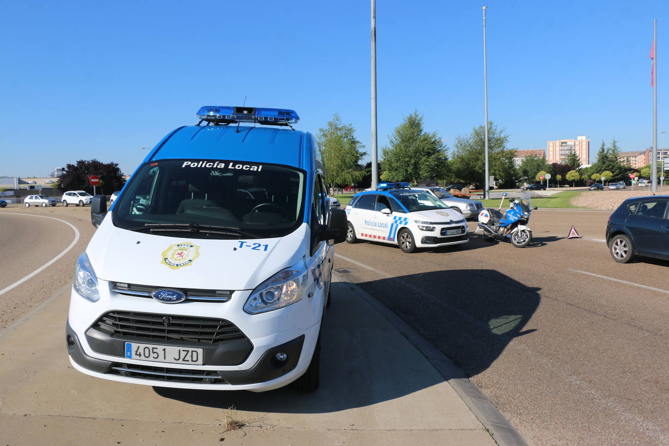
[[[58,189],[60,191],[86,191],[93,193],[93,187],[88,183],[89,175],[98,175],[104,181],[104,190],[98,186],[98,192],[120,191],[125,184],[125,179],[116,162],[103,163],[96,159],[78,160],[76,164],[66,164],[65,172],[58,177]]]

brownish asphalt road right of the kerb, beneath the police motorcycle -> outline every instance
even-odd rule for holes
[[[343,243],[334,268],[452,358],[529,443],[666,445],[669,262],[615,263],[608,216],[540,209],[522,249],[478,234],[413,254]],[[566,238],[571,225],[583,238]]]

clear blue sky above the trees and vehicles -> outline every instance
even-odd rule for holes
[[[483,5],[488,116],[509,148],[579,134],[591,157],[601,140],[651,146],[653,19],[658,131],[669,131],[666,0],[377,0],[379,153],[413,110],[449,148],[483,124]],[[0,175],[45,176],[91,158],[130,174],[141,146],[195,124],[200,106],[245,96],[296,110],[297,128],[314,133],[339,113],[370,152],[369,28],[366,0],[9,2]]]

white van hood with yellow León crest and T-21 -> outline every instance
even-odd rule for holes
[[[99,279],[129,284],[252,290],[305,253],[308,225],[272,239],[191,239],[128,231],[107,215],[86,253]]]

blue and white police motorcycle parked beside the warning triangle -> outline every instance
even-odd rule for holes
[[[537,207],[530,207],[530,198],[510,198],[509,209],[502,215],[502,203],[506,192],[502,194],[502,201],[498,209],[486,208],[478,214],[478,229],[483,232],[483,238],[494,241],[498,237],[506,237],[518,248],[528,245],[532,241],[532,229],[525,226],[530,219],[530,213]]]

